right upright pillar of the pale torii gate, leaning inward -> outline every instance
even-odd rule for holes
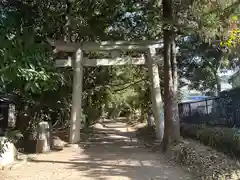
[[[151,82],[152,110],[156,126],[156,139],[161,142],[164,135],[164,119],[161,116],[163,108],[158,65],[153,60],[154,56],[156,56],[156,50],[155,48],[150,48],[145,57],[147,58],[146,62],[148,64],[148,72]]]

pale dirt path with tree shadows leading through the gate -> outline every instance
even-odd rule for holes
[[[8,180],[187,180],[189,174],[142,147],[123,122],[104,121],[80,147],[38,155],[11,171]]]

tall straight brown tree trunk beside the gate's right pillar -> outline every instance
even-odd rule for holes
[[[163,19],[165,22],[173,21],[173,1],[163,0]],[[164,40],[164,139],[163,151],[180,139],[180,126],[177,104],[177,62],[175,33],[172,25],[167,23],[163,27]]]

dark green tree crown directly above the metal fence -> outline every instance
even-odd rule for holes
[[[190,80],[193,89],[215,90],[220,81],[220,70],[235,68],[238,64],[237,54],[226,54],[217,45],[206,43],[199,36],[187,36],[178,43],[178,66],[183,69],[180,76]]]

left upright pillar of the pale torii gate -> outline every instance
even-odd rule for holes
[[[78,49],[73,63],[73,92],[70,119],[69,143],[76,144],[80,141],[80,126],[82,114],[82,81],[83,81],[83,51]]]

